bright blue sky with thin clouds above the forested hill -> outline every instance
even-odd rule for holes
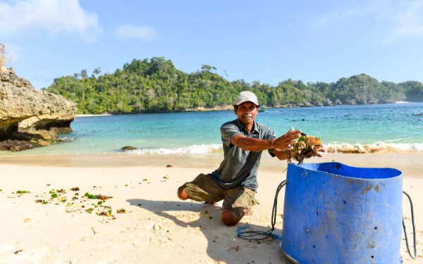
[[[271,85],[360,73],[423,82],[423,0],[0,0],[0,25],[8,67],[37,89],[154,56]]]

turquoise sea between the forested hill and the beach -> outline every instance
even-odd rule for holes
[[[423,116],[417,113],[423,103],[274,108],[256,120],[277,135],[294,127],[320,137],[329,152],[422,152]],[[123,155],[204,155],[222,151],[219,128],[235,118],[233,111],[79,117],[73,133],[61,134],[66,143],[0,156],[102,155],[123,146],[139,148]]]

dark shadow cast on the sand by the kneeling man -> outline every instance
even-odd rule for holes
[[[226,227],[220,220],[221,206],[204,205],[204,203],[192,201],[151,201],[145,199],[129,199],[127,201],[130,206],[135,206],[139,210],[148,210],[157,215],[159,220],[173,221],[177,227],[176,230],[171,231],[172,240],[173,242],[176,240],[176,244],[183,248],[178,250],[185,253],[188,252],[189,254],[190,251],[201,250],[202,241],[205,237],[207,239],[207,254],[214,259],[214,263],[291,263],[288,258],[283,256],[279,247],[279,240],[274,237],[262,241],[238,238],[237,228],[244,226],[249,217],[243,218],[235,227]],[[249,225],[250,230],[269,230],[267,225]],[[281,230],[274,232],[275,234],[282,233]],[[190,260],[187,260],[187,263],[189,262]],[[206,261],[206,263],[208,262]]]

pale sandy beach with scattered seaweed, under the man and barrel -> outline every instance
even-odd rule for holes
[[[411,260],[404,240],[400,253],[404,263],[423,263],[422,158],[422,153],[326,154],[307,162],[334,160],[401,170],[403,189],[415,207],[420,257]],[[236,232],[246,223],[254,230],[269,229],[286,162],[263,156],[256,196],[260,204],[236,227],[221,223],[221,202],[205,206],[178,200],[181,184],[211,172],[220,161],[221,156],[2,158],[0,263],[290,263],[277,239],[258,243],[239,239]],[[79,191],[71,191],[75,187]],[[51,190],[58,198],[51,199]],[[87,192],[113,198],[99,205],[101,200],[84,196]],[[117,213],[121,209],[125,213]],[[405,199],[403,212],[412,238]],[[281,234],[281,213],[283,194],[278,198],[276,234]]]

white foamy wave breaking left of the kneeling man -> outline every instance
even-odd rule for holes
[[[192,146],[183,146],[180,148],[166,149],[134,149],[132,151],[125,151],[127,154],[132,155],[145,155],[145,154],[203,154],[203,153],[212,153],[220,151],[222,149],[221,144],[201,144],[201,145],[192,145]]]

